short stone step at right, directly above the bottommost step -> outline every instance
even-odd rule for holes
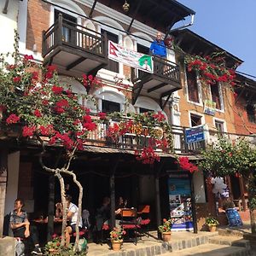
[[[250,249],[250,241],[242,239],[241,237],[238,236],[213,236],[209,237],[209,243],[245,247],[248,250]]]

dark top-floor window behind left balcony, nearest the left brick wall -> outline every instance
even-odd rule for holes
[[[62,15],[63,19],[63,24],[61,28],[62,32],[62,41],[71,43],[71,44],[76,44],[76,32],[73,29],[70,29],[65,26],[67,24],[68,26],[73,26],[76,27],[76,24],[78,23],[77,18],[73,17],[72,15],[67,15],[65,13],[62,13],[58,9],[55,9],[55,21],[58,20],[59,15]]]

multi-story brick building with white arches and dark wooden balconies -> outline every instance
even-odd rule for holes
[[[109,41],[123,49],[148,55],[157,32],[170,36],[172,26],[189,15],[195,15],[195,12],[174,0],[160,3],[151,0],[123,3],[116,0],[20,2],[20,54],[33,55],[35,61],[45,66],[56,65],[61,83],[70,84],[73,93],[90,94],[96,98],[98,109],[80,97],[84,107],[90,108],[92,113],[160,112],[172,125],[176,154],[159,151],[160,163],[151,166],[137,162],[134,149],[140,147],[140,141],[135,140],[135,135],[126,134],[119,137],[119,143],[109,144],[106,126],[100,127],[101,132],[90,134],[88,144],[73,161],[72,168],[84,185],[83,204],[91,216],[106,195],[111,195],[113,201],[115,195],[123,195],[129,199],[131,207],[150,205],[154,228],[162,217],[170,215],[170,207],[175,209],[186,203],[189,205],[191,197],[193,208],[195,203],[198,206],[198,216],[205,217],[209,212],[215,212],[212,194],[205,185],[203,174],[195,173],[192,180],[187,172],[177,170],[175,161],[177,154],[196,160],[198,147],[202,148],[205,143],[187,143],[185,129],[181,126],[207,125],[205,130],[236,133],[231,92],[224,94],[221,84],[207,90],[201,88],[198,78],[187,73],[182,62],[177,61],[180,54],[177,55],[173,48],[167,48],[165,60],[153,56],[153,73],[108,59]],[[223,51],[189,30],[173,32],[172,37],[187,54]],[[241,63],[236,56],[227,52],[225,55],[228,67]],[[78,80],[84,73],[101,79],[101,88],[86,90]],[[205,113],[205,100],[216,102],[213,116]],[[208,142],[215,140],[213,135],[207,133]],[[4,151],[6,141],[2,145]],[[52,185],[55,181],[42,172],[38,163],[39,149],[9,143],[8,150],[4,152],[2,167],[5,165],[12,173],[3,198],[5,214],[10,212],[17,196],[26,200],[28,212],[43,210],[47,214],[49,194],[54,193]],[[51,165],[55,162],[55,148],[47,154],[47,162]],[[181,190],[178,191],[173,184],[180,186]],[[59,191],[57,185],[55,191]],[[70,193],[76,197],[72,186]],[[190,215],[192,212],[189,218],[192,217]]]

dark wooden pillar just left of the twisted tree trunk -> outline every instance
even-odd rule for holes
[[[49,195],[48,195],[48,224],[47,224],[47,241],[52,240],[54,234],[54,217],[55,217],[55,175],[49,175]]]

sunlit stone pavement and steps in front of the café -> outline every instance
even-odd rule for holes
[[[153,237],[143,236],[137,242],[124,242],[121,251],[113,252],[110,245],[89,244],[88,256],[256,256],[256,240],[248,241],[244,236],[251,235],[250,224],[242,227],[220,227],[218,232],[172,232],[172,240],[159,241],[156,231],[150,232]]]

